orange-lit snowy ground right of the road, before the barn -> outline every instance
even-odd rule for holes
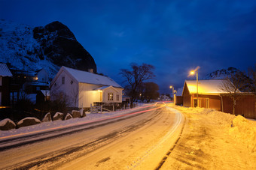
[[[256,121],[214,109],[173,107],[186,123],[162,169],[256,169]]]

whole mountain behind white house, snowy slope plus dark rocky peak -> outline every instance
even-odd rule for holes
[[[51,78],[62,66],[96,73],[93,57],[61,22],[32,28],[0,19],[0,62],[14,70],[44,68]]]

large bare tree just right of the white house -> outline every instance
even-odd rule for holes
[[[137,65],[131,64],[132,70],[121,69],[120,75],[126,79],[128,83],[127,88],[130,89],[131,107],[133,107],[133,101],[136,98],[137,88],[147,79],[153,79],[154,73],[151,71],[154,66],[150,64]]]

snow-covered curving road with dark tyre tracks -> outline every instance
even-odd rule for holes
[[[34,137],[5,139],[0,169],[155,169],[178,139],[184,118],[163,104],[145,109]]]

